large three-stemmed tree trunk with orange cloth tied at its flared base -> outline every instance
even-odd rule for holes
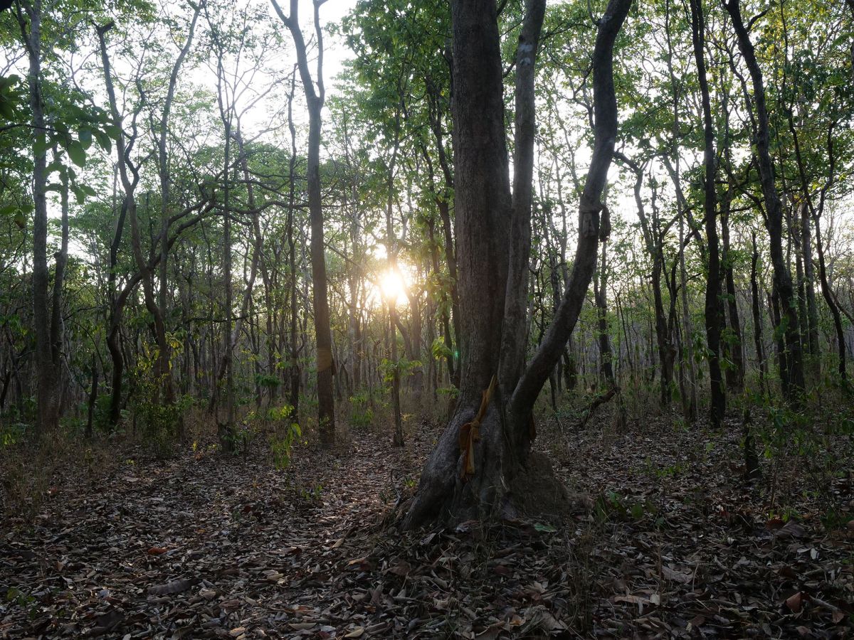
[[[459,402],[424,466],[405,527],[564,509],[565,488],[550,473],[547,458],[529,455],[535,434],[531,409],[563,353],[596,265],[600,196],[617,136],[612,49],[630,5],[631,0],[611,0],[598,23],[593,57],[595,143],[579,207],[576,259],[553,323],[522,370],[524,340],[514,341],[512,336],[524,336],[527,321],[526,312],[519,311],[524,310],[524,300],[517,296],[527,288],[526,276],[520,277],[518,270],[528,270],[524,248],[530,230],[522,228],[518,217],[529,225],[530,199],[525,192],[529,194],[530,189],[522,177],[531,172],[523,165],[533,161],[533,136],[529,135],[534,127],[533,65],[545,3],[526,0],[518,43],[515,200],[507,177],[495,3],[453,3],[454,196],[462,351]],[[520,159],[522,163],[517,164]],[[607,226],[603,224],[602,231]],[[523,329],[512,324],[517,322]],[[491,385],[499,371],[497,385]],[[518,383],[508,384],[514,377]],[[488,388],[494,388],[492,399],[484,393]]]

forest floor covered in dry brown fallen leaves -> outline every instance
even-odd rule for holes
[[[67,467],[32,518],[0,520],[0,638],[854,635],[850,469],[766,460],[746,486],[736,416],[718,432],[603,416],[542,428],[589,497],[560,527],[389,525],[426,424],[402,451],[354,431],[285,470],[262,439]]]

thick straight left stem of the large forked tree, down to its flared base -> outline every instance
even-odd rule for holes
[[[494,0],[453,3],[453,164],[459,289],[459,398],[451,422],[430,456],[406,523],[477,514],[495,502],[505,447],[495,403],[477,443],[477,472],[460,480],[459,428],[481,403],[498,371],[504,314],[507,245],[512,224],[500,38]],[[483,468],[482,463],[489,460]],[[465,505],[463,503],[466,503]],[[468,506],[466,506],[468,505]],[[488,508],[488,507],[487,507]]]

